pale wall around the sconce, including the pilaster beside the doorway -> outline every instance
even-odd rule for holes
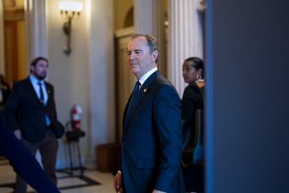
[[[87,167],[96,164],[96,145],[115,141],[113,1],[83,0],[84,9],[72,21],[70,55],[62,51],[66,20],[58,0],[47,1],[47,40],[50,60],[49,81],[54,85],[59,120],[70,120],[71,107],[82,106],[80,139]],[[67,145],[61,140],[57,168],[67,166]]]

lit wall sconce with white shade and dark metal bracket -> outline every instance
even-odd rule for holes
[[[59,1],[59,9],[61,16],[67,21],[64,22],[64,34],[67,35],[67,43],[64,45],[62,50],[66,55],[71,53],[71,21],[73,18],[77,18],[82,11],[83,4],[82,1]]]

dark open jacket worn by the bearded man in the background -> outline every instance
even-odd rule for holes
[[[63,125],[57,121],[53,86],[45,82],[45,87],[48,101],[46,106],[43,106],[29,77],[15,83],[3,110],[10,129],[20,129],[22,137],[35,143],[42,141],[45,136],[45,115],[50,117],[51,127],[56,136],[60,138],[64,134]]]

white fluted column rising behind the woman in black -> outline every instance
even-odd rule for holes
[[[168,75],[182,96],[186,84],[181,75],[184,59],[203,59],[201,0],[169,0]]]

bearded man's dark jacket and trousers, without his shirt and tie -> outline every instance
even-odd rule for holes
[[[6,101],[3,115],[10,129],[13,131],[20,129],[22,143],[33,154],[36,153],[39,145],[40,154],[42,158],[45,157],[42,159],[45,172],[56,183],[55,162],[58,149],[56,138],[60,138],[64,134],[64,127],[57,120],[53,86],[45,81],[44,83],[47,91],[45,104],[38,98],[29,77],[15,83],[8,101]],[[50,120],[49,126],[46,125],[46,116]],[[46,144],[53,145],[50,148]],[[18,178],[16,187],[24,189],[23,182]]]

